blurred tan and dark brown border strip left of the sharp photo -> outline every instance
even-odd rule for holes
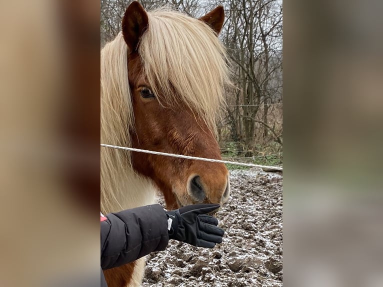
[[[99,7],[1,2],[0,286],[99,283]]]

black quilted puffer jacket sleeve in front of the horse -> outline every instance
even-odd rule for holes
[[[168,244],[167,217],[159,204],[106,214],[101,221],[101,268],[134,261]]]

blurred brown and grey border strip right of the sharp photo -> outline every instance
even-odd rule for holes
[[[382,286],[383,3],[283,4],[283,282]]]

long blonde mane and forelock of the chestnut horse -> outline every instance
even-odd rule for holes
[[[176,106],[179,102],[189,106],[215,132],[223,90],[230,84],[222,43],[207,24],[182,13],[158,9],[147,14],[149,25],[138,52],[151,89],[161,95],[158,101],[165,106]],[[134,116],[127,49],[119,33],[101,50],[102,143],[131,146],[129,130],[134,129]],[[121,203],[121,198],[133,196],[132,191],[125,189],[123,182],[132,179],[126,176],[145,180],[132,174],[128,152],[101,148],[101,211],[129,207]],[[151,184],[148,180],[146,183]],[[133,202],[134,198],[129,200]]]

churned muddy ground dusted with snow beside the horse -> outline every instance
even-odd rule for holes
[[[170,240],[147,256],[142,286],[282,286],[281,174],[232,170],[230,184],[216,213],[223,242],[208,249]]]

